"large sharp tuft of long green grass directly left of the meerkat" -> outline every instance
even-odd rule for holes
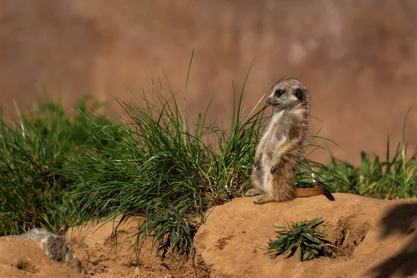
[[[190,254],[207,208],[241,196],[249,186],[265,107],[242,117],[242,97],[243,92],[228,131],[206,124],[209,105],[190,124],[176,94],[162,85],[152,83],[149,95],[140,98],[117,99],[127,115],[124,124],[104,126],[95,135],[97,146],[66,167],[68,175],[80,177],[75,186],[82,188],[70,196],[76,204],[72,216],[81,224],[143,215],[139,250],[153,236],[161,257]],[[117,149],[99,144],[103,139],[117,142]]]

